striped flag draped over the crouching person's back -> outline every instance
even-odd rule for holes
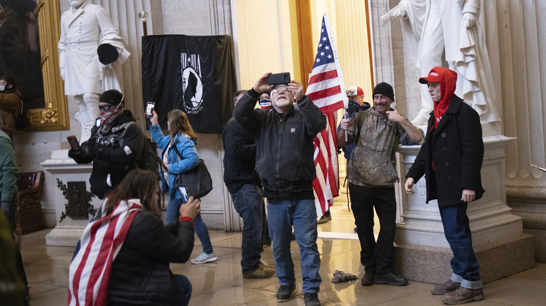
[[[134,219],[142,210],[139,199],[120,201],[111,214],[102,217],[106,201],[83,230],[80,249],[69,268],[68,305],[106,305],[114,258]]]

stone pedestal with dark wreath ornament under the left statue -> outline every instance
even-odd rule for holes
[[[51,152],[51,159],[43,161],[41,166],[52,173],[55,179],[59,179],[66,184],[66,182],[85,182],[85,189],[89,191],[89,177],[91,175],[92,163],[79,165],[73,159],[68,157],[68,150],[57,150]],[[89,223],[92,218],[91,215],[87,219],[71,219],[66,217],[62,221],[61,214],[64,212],[64,205],[68,203],[68,200],[64,198],[60,189],[55,190],[55,219],[57,220],[57,226],[52,229],[48,235],[45,236],[46,245],[56,245],[64,247],[75,247],[78,240],[81,238],[83,228]],[[92,198],[91,203],[95,208],[99,208],[102,205],[102,200],[97,197]]]

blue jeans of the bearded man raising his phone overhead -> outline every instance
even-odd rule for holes
[[[321,254],[316,246],[316,209],[314,200],[267,199],[267,223],[273,240],[276,277],[279,284],[295,283],[294,263],[290,254],[292,226],[295,240],[300,246],[303,292],[318,293],[321,285]]]

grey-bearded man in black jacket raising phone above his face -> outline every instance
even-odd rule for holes
[[[304,96],[300,83],[292,80],[268,85],[269,75],[271,73],[262,75],[253,89],[239,99],[233,115],[256,139],[255,169],[264,187],[263,196],[267,198],[269,235],[281,285],[276,299],[286,302],[295,290],[290,254],[294,226],[295,240],[300,246],[305,305],[321,305],[317,296],[322,280],[318,274],[321,256],[316,246],[312,185],[316,177],[313,138],[325,129],[326,118],[313,101]],[[269,90],[272,90],[272,108],[255,109],[260,94]]]

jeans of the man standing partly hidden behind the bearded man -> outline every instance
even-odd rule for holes
[[[262,258],[262,213],[265,203],[260,187],[255,184],[244,184],[231,197],[235,210],[243,218],[241,268],[243,273],[251,273],[258,269]]]

